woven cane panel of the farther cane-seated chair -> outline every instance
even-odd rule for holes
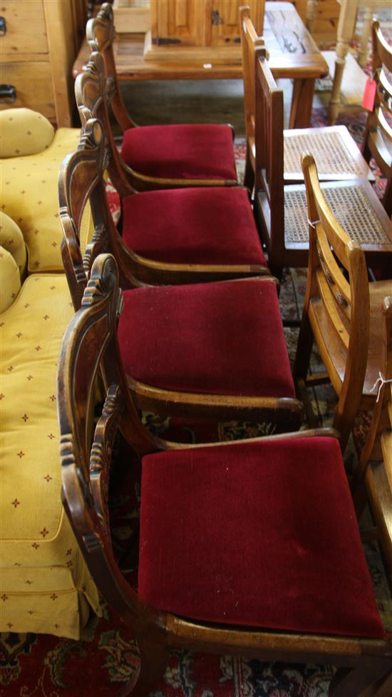
[[[341,134],[312,133],[284,138],[284,171],[301,171],[301,154],[309,150],[314,156],[319,174],[361,174],[361,168],[351,156]]]

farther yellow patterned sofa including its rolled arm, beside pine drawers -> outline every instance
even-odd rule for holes
[[[28,249],[28,271],[63,271],[57,176],[76,150],[79,129],[58,129],[31,109],[0,111],[1,210],[19,225]],[[91,233],[87,208],[81,246]]]

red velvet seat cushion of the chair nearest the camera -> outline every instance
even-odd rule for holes
[[[383,636],[338,441],[143,458],[138,593],[198,620]]]

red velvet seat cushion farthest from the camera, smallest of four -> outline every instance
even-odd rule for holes
[[[125,131],[121,155],[132,169],[147,176],[237,180],[229,126],[137,126]]]

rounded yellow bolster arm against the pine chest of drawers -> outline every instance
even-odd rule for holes
[[[48,148],[53,137],[53,126],[38,111],[0,111],[0,157],[36,154]]]

